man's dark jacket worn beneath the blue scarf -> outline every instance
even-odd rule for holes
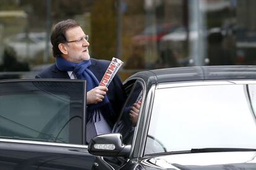
[[[110,62],[106,60],[98,60],[93,58],[91,58],[91,62],[92,65],[89,66],[88,69],[90,69],[93,72],[95,77],[100,82],[103,75],[106,72],[106,69],[108,69]],[[66,71],[59,70],[56,67],[56,64],[53,64],[52,66],[49,66],[47,69],[43,70],[38,75],[36,75],[36,79],[70,79],[70,77]],[[113,125],[119,117],[122,106],[126,101],[126,93],[124,91],[122,82],[117,74],[114,76],[113,80],[108,86],[107,96],[111,103],[111,106],[113,107],[115,114],[114,117],[111,117],[110,120],[108,120],[111,122],[111,125]]]

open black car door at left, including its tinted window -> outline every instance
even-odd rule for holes
[[[1,169],[91,169],[84,80],[0,81]]]

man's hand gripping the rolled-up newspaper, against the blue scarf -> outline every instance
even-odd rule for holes
[[[103,101],[108,88],[105,86],[98,86],[87,92],[87,104],[96,104]]]

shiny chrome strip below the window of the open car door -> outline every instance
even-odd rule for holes
[[[7,139],[7,138],[0,138],[0,142],[23,143],[23,144],[33,144],[33,145],[48,145],[48,146],[56,146],[56,147],[88,148],[88,145],[77,145],[77,144],[70,144],[70,143],[39,142],[39,141],[33,141],[33,140],[20,140],[20,139]]]

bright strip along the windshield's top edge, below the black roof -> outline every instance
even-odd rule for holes
[[[168,82],[160,83],[157,89],[161,88],[173,88],[173,87],[187,87],[187,86],[198,86],[198,85],[231,85],[231,84],[244,84],[250,83],[255,84],[255,80],[198,80],[193,82]]]

